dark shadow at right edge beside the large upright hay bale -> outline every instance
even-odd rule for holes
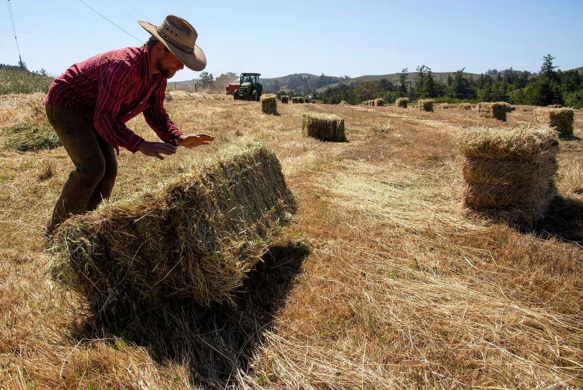
[[[583,246],[583,201],[557,196],[532,233]]]

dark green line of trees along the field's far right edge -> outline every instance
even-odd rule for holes
[[[490,69],[479,77],[473,77],[462,68],[449,75],[447,80],[437,79],[429,66],[421,65],[417,66],[415,80],[409,80],[409,70],[405,68],[399,73],[398,83],[381,79],[357,84],[354,81],[348,83],[346,79],[343,80],[345,83],[334,81],[337,86],[319,95],[324,102],[332,104],[342,100],[359,104],[374,98],[392,103],[399,97],[409,97],[412,100],[434,98],[437,102],[506,101],[511,104],[583,107],[583,75],[577,70],[561,72],[553,65],[553,60],[550,54],[544,56],[539,73],[512,68],[501,71]],[[318,79],[326,80],[326,77],[329,76],[322,75]],[[305,80],[296,90],[293,86],[301,79]],[[309,81],[305,77],[296,77],[294,84],[289,83],[283,94],[317,94],[316,90],[320,87],[317,83],[310,86]]]

